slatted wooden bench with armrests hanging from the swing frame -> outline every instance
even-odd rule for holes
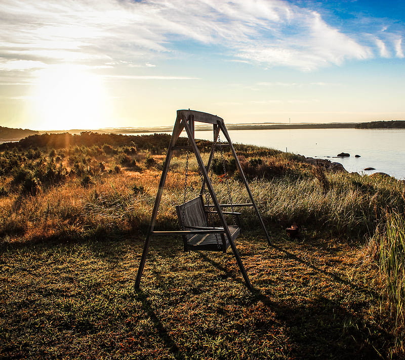
[[[188,202],[176,206],[177,216],[183,232],[184,251],[206,250],[222,251],[226,253],[229,247],[229,239],[223,227],[208,225],[206,207],[203,196],[199,195]],[[209,213],[216,213],[210,211]],[[222,212],[223,214],[240,215],[234,212]],[[228,226],[232,241],[240,234],[239,226]],[[205,230],[207,232],[205,232]]]

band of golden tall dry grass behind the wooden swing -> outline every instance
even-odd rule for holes
[[[69,176],[62,184],[35,196],[14,193],[0,197],[3,202],[0,234],[30,239],[58,234],[143,232],[147,228],[164,161],[163,156],[153,158],[154,166],[141,172],[130,168],[120,173],[99,172],[86,186],[82,178]],[[325,175],[327,189],[311,174],[309,166],[291,158],[275,155],[271,159],[264,158],[263,163],[277,164],[277,176],[251,180],[250,187],[270,230],[295,222],[301,227],[341,238],[366,241],[377,225],[386,221],[387,209],[403,212],[405,208],[404,185],[394,179],[329,173]],[[279,176],[279,169],[284,167],[294,171]],[[184,198],[184,168],[185,156],[174,157],[158,213],[161,228],[177,226],[175,205]],[[188,171],[187,199],[196,196],[201,186],[195,161],[190,161]],[[250,201],[245,186],[237,177],[211,174],[211,178],[220,202],[229,202],[228,190],[233,204]],[[244,214],[245,227],[255,228],[254,211],[250,208],[240,210]]]

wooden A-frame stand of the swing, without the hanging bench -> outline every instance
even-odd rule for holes
[[[214,143],[213,146],[211,148],[211,153],[210,153],[210,157],[209,157],[209,161],[207,164],[207,167],[204,165],[203,159],[201,158],[201,154],[197,148],[197,145],[195,143],[195,138],[194,138],[194,124],[195,122],[197,123],[205,123],[205,124],[212,124],[213,125],[213,132],[214,132]],[[177,139],[179,138],[181,132],[185,130],[189,139],[189,145],[186,146],[177,146],[176,142]],[[229,241],[229,246],[232,249],[233,255],[236,259],[236,262],[239,266],[240,272],[242,273],[244,279],[245,279],[245,283],[246,286],[250,289],[253,290],[252,284],[250,283],[248,274],[246,273],[245,267],[242,263],[242,261],[240,260],[240,256],[239,253],[235,247],[235,244],[233,242],[233,238],[232,238],[232,234],[230,232],[230,229],[228,227],[228,224],[225,220],[223,211],[222,211],[222,207],[221,204],[219,204],[217,196],[215,194],[215,191],[213,189],[210,177],[208,175],[208,172],[210,170],[211,167],[211,163],[214,157],[214,149],[216,146],[216,143],[218,141],[218,135],[219,132],[222,132],[223,135],[225,136],[230,150],[232,152],[232,155],[235,159],[235,163],[236,163],[236,167],[239,171],[240,177],[242,179],[242,182],[245,184],[246,190],[249,194],[250,200],[251,200],[251,204],[235,204],[234,206],[252,206],[255,209],[256,215],[260,221],[260,224],[264,230],[264,233],[266,235],[267,238],[267,242],[269,243],[269,245],[271,245],[271,241],[270,241],[270,237],[268,235],[268,232],[266,230],[266,227],[264,226],[263,223],[263,219],[259,213],[259,210],[256,206],[256,203],[253,199],[253,195],[252,192],[249,188],[248,182],[246,180],[245,174],[242,171],[242,168],[240,166],[239,160],[236,156],[236,152],[235,149],[233,147],[233,144],[231,142],[231,139],[229,137],[228,131],[226,130],[224,121],[221,117],[218,117],[216,115],[212,115],[206,112],[200,112],[200,111],[194,111],[194,110],[177,110],[177,117],[176,117],[176,123],[174,125],[173,128],[173,134],[172,134],[172,138],[170,140],[170,144],[169,144],[169,148],[167,151],[167,155],[166,155],[166,161],[165,161],[165,165],[163,168],[163,172],[161,174],[161,178],[160,178],[160,183],[159,183],[159,188],[157,190],[157,194],[156,194],[156,199],[155,199],[155,204],[153,207],[153,211],[152,211],[152,217],[149,223],[149,229],[148,229],[148,233],[146,235],[146,240],[145,240],[145,245],[143,248],[143,253],[142,253],[142,257],[141,257],[141,261],[139,264],[139,268],[138,268],[138,273],[137,273],[137,277],[136,277],[136,282],[135,282],[135,288],[138,289],[140,282],[141,282],[141,277],[142,277],[142,272],[143,272],[143,268],[145,266],[145,261],[146,261],[146,256],[149,250],[149,244],[150,244],[150,237],[152,234],[182,234],[184,235],[185,233],[187,234],[210,234],[210,233],[218,233],[218,230],[198,230],[198,229],[194,229],[192,231],[187,231],[187,230],[181,230],[181,231],[154,231],[155,228],[155,223],[156,223],[156,217],[157,217],[157,211],[159,209],[159,205],[160,205],[160,201],[161,201],[161,196],[163,194],[163,190],[164,190],[164,186],[165,186],[165,182],[166,182],[166,178],[169,172],[169,166],[170,166],[170,161],[171,158],[173,156],[173,151],[174,150],[191,150],[193,151],[196,159],[197,159],[197,163],[198,163],[198,167],[199,170],[203,176],[203,185],[201,186],[201,192],[203,192],[204,187],[207,186],[207,189],[211,195],[212,201],[213,201],[213,207],[215,208],[215,210],[217,211],[218,217],[221,221],[222,224],[222,232],[224,234],[224,236],[226,235],[227,240]]]

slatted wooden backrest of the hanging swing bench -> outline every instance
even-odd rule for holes
[[[195,226],[208,226],[207,213],[204,208],[203,196],[201,195],[176,206],[176,211],[180,226],[185,230],[191,230]],[[189,237],[191,236],[189,235]]]

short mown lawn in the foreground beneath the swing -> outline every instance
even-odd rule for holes
[[[143,237],[4,243],[0,357],[385,357],[392,339],[362,248],[314,233],[272,239],[237,239],[254,293],[230,249],[184,253],[176,237],[153,239],[140,291]]]

